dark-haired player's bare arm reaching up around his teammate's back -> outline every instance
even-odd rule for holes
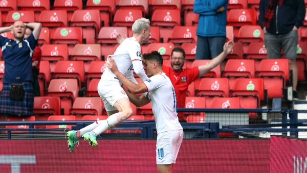
[[[114,75],[120,80],[120,82],[125,85],[129,91],[133,94],[139,94],[143,92],[147,92],[147,87],[144,83],[135,84],[129,81],[123,74],[117,69],[115,61],[112,57],[108,57],[109,62],[105,61],[105,65],[114,73]],[[148,77],[147,77],[148,78]]]

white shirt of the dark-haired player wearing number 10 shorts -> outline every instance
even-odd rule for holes
[[[177,116],[176,94],[170,79],[164,72],[145,81],[153,115],[156,118],[157,133],[181,130]]]

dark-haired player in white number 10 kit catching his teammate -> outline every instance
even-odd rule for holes
[[[127,79],[109,57],[106,66],[128,88],[130,101],[137,107],[151,102],[153,115],[156,118],[157,150],[156,160],[159,172],[171,172],[183,139],[183,129],[177,116],[177,102],[174,87],[162,70],[162,56],[153,51],[143,55],[143,64],[149,79],[135,84]],[[134,94],[147,92],[147,95]]]

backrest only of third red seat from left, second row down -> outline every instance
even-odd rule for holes
[[[94,27],[96,34],[100,30],[99,10],[76,10],[72,16],[71,27]]]

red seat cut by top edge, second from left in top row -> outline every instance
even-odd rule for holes
[[[18,10],[34,11],[35,21],[43,10],[50,10],[49,0],[21,0],[18,3]]]

